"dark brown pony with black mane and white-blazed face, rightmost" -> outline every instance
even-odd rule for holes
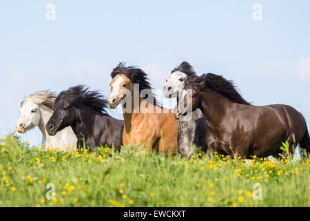
[[[189,90],[190,89],[190,90]],[[187,96],[192,91],[192,96]],[[214,74],[187,77],[183,95],[174,108],[176,119],[200,108],[207,117],[207,152],[242,158],[278,155],[282,142],[289,151],[300,144],[310,152],[307,124],[291,106],[254,106],[241,97],[231,81]]]

